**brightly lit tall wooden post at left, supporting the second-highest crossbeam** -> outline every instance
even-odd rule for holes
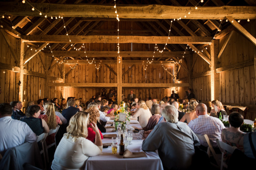
[[[16,52],[18,57],[18,67],[20,67],[20,73],[17,73],[16,84],[18,84],[18,100],[23,101],[23,57],[24,57],[24,43],[21,42],[21,38],[16,39]]]

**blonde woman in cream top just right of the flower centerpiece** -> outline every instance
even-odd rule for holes
[[[152,114],[150,113],[149,108],[147,107],[145,101],[139,101],[139,107],[140,108],[138,109],[138,111],[132,117],[139,117],[140,126],[144,128],[145,126],[147,126],[149,118],[152,116]]]

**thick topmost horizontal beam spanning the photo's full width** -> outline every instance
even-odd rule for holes
[[[112,5],[53,3],[31,3],[31,5],[50,16],[116,18],[116,14],[113,12],[115,8]],[[225,16],[235,19],[256,19],[256,7],[245,6],[198,7],[197,10],[194,7],[168,5],[119,5],[118,7],[120,18],[170,19],[179,18],[186,11],[192,11],[186,19],[194,20],[222,20]],[[38,12],[32,11],[28,3],[22,2],[1,2],[0,13],[14,16],[41,16]]]

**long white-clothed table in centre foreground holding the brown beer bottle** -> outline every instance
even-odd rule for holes
[[[109,122],[113,122],[110,120]],[[131,120],[130,126],[136,126],[138,129],[141,129],[141,126],[137,120]],[[137,124],[136,124],[137,123]],[[106,126],[110,126],[110,124],[106,124]],[[112,132],[112,129],[106,129],[106,133],[104,134],[117,134],[117,132]],[[128,146],[128,149],[131,152],[142,152],[142,141],[141,137],[139,140],[137,139],[139,136],[142,137],[140,133],[134,133],[133,140],[131,145]],[[103,144],[111,143],[111,139],[106,138],[102,140]],[[107,148],[103,148],[102,153],[98,156],[89,157],[86,162],[86,170],[163,170],[162,162],[159,158],[157,152],[145,152],[147,157],[140,158],[123,158],[123,156],[119,155],[119,147],[117,147],[117,154],[112,154],[111,146]]]

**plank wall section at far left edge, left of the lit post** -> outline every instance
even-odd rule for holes
[[[10,43],[13,49],[16,51],[16,39],[13,36],[5,33],[7,38],[10,40]],[[10,48],[8,47],[5,39],[0,33],[0,62],[8,65],[15,65],[15,60],[10,52]],[[18,100],[18,82],[16,82],[17,73],[1,70],[0,69],[0,87],[2,89],[2,93],[0,94],[0,103],[10,102],[13,100]]]

